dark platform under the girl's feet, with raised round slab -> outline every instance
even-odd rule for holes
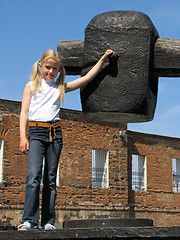
[[[65,221],[63,229],[18,231],[16,227],[0,226],[0,240],[27,239],[122,239],[178,240],[180,226],[154,227],[151,219],[85,219]]]

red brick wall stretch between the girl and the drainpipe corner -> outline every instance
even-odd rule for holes
[[[64,146],[60,159],[57,209],[64,219],[129,217],[127,145],[119,136],[125,125],[87,121],[83,114],[63,110]],[[109,150],[109,188],[92,188],[92,149]],[[123,180],[122,180],[123,179]],[[72,210],[75,210],[72,213]],[[84,212],[83,216],[80,216]],[[99,212],[98,212],[99,211]]]

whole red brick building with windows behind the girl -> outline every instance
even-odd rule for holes
[[[20,102],[0,100],[0,225],[18,225],[26,156],[19,151]],[[57,222],[150,218],[180,225],[180,139],[127,131],[61,109],[64,146],[57,177]]]

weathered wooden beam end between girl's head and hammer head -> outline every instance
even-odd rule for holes
[[[57,51],[62,56],[67,75],[81,75],[84,41],[59,41]]]

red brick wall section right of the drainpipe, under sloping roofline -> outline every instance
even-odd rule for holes
[[[172,158],[180,158],[180,139],[128,132],[131,154],[145,155],[147,191],[132,191],[129,199],[136,217],[147,217],[155,225],[180,225],[180,193],[173,192]],[[130,161],[130,159],[129,159]]]

